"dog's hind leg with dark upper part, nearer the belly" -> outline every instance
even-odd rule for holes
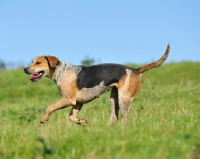
[[[118,120],[119,102],[118,102],[118,89],[116,87],[113,87],[111,91],[110,109],[111,109],[111,115],[108,121],[108,125],[114,124]]]

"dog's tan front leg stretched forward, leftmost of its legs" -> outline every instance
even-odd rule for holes
[[[75,105],[76,101],[72,101],[68,98],[62,98],[60,101],[58,101],[55,104],[50,105],[47,109],[46,109],[46,113],[45,115],[42,117],[42,119],[40,120],[40,123],[43,124],[45,123],[48,119],[49,116],[51,115],[51,113],[53,113],[54,111],[58,110],[58,109],[62,109],[68,106],[72,106]]]

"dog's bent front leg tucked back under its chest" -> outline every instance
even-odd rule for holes
[[[86,126],[87,125],[87,121],[84,120],[84,119],[79,119],[78,118],[78,113],[81,110],[82,106],[83,106],[83,104],[76,104],[75,106],[72,106],[72,110],[70,112],[69,119],[72,122],[75,122],[77,124]]]

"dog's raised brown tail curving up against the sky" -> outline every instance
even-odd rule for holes
[[[143,72],[145,72],[149,69],[160,66],[167,59],[169,51],[170,51],[170,44],[167,45],[167,49],[165,51],[165,54],[158,61],[138,68],[138,73],[141,74],[141,73],[143,73]]]

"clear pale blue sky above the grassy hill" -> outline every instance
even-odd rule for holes
[[[0,0],[0,59],[78,65],[200,61],[199,0]]]

